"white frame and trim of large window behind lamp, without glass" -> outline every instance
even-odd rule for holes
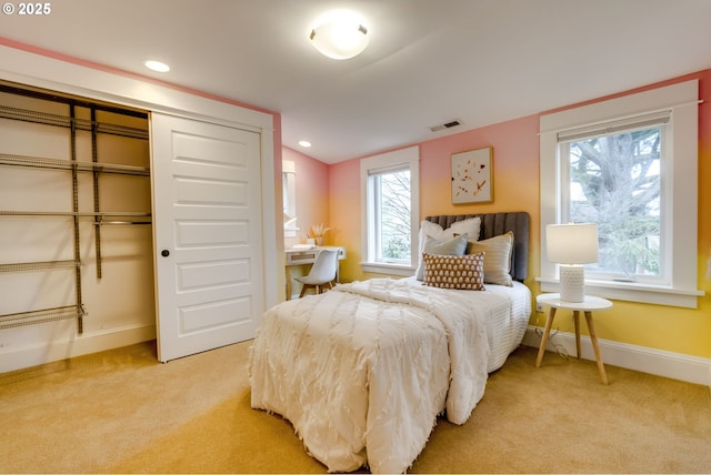
[[[669,111],[662,186],[670,203],[662,216],[670,239],[671,282],[650,285],[635,282],[585,280],[585,292],[608,299],[695,309],[698,297],[698,166],[699,81],[685,81],[542,115],[540,120],[541,275],[543,292],[558,292],[558,266],[545,255],[545,226],[558,223],[562,195],[558,134],[597,124],[633,120]]]

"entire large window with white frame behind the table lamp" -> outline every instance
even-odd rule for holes
[[[543,291],[545,225],[593,222],[588,293],[697,306],[697,81],[543,115],[540,152]]]

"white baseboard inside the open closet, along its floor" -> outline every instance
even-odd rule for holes
[[[0,373],[24,370],[156,338],[156,325],[132,325],[109,331],[84,333],[46,345],[7,348],[0,352]]]

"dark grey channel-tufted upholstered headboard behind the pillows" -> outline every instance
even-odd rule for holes
[[[512,213],[442,214],[427,216],[425,220],[439,224],[442,229],[448,229],[457,221],[477,216],[481,218],[480,241],[509,231],[513,232],[511,276],[519,282],[523,282],[529,267],[529,213],[518,211]]]

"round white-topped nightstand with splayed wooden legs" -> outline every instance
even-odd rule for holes
[[[555,311],[558,309],[573,311],[573,323],[575,324],[575,351],[578,358],[580,358],[580,312],[583,312],[585,314],[585,322],[588,323],[588,332],[590,333],[592,350],[595,353],[595,361],[598,362],[600,378],[602,380],[603,384],[608,384],[608,376],[604,374],[604,365],[602,364],[600,347],[598,346],[598,336],[595,336],[595,329],[592,323],[592,311],[610,309],[612,306],[612,302],[607,299],[591,295],[585,295],[583,302],[565,302],[560,300],[560,294],[541,294],[535,297],[535,301],[539,304],[549,307],[548,316],[545,317],[545,330],[543,331],[543,338],[541,340],[541,346],[538,348],[535,367],[540,367],[541,361],[543,360],[545,344],[548,343],[548,337],[551,333],[551,326],[553,325],[553,319],[555,317]]]

